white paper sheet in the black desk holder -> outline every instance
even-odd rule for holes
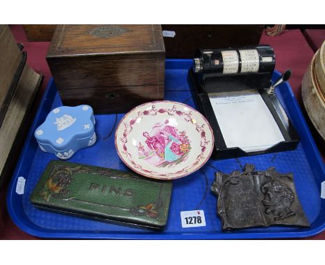
[[[255,90],[209,94],[227,148],[264,151],[284,141],[269,108]]]

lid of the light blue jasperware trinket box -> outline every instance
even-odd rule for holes
[[[91,137],[94,123],[94,114],[89,105],[63,106],[51,110],[34,135],[38,144],[49,144],[56,151],[64,151],[72,142]]]

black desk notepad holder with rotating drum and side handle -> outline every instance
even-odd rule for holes
[[[201,50],[189,70],[190,85],[215,135],[213,159],[293,150],[294,126],[274,94],[271,46]]]

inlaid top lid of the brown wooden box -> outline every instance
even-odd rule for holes
[[[47,58],[165,53],[160,25],[58,25]]]

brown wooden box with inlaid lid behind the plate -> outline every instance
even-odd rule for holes
[[[120,113],[164,97],[160,25],[59,25],[47,62],[64,105]]]

